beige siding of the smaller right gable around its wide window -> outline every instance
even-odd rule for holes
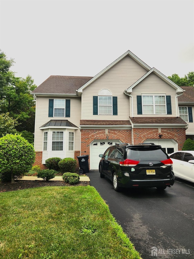
[[[176,90],[164,82],[161,78],[156,76],[154,73],[151,73],[144,80],[142,80],[138,85],[136,85],[132,90],[133,96],[133,115],[142,116],[137,114],[137,95],[170,95],[171,96],[171,107],[172,115],[159,114],[162,116],[172,116],[176,117]],[[152,117],[156,114],[143,114],[147,117]]]

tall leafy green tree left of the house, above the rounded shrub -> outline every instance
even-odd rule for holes
[[[10,117],[17,119],[17,131],[34,132],[35,100],[30,92],[36,85],[29,75],[25,79],[15,77],[9,70],[13,63],[0,50],[0,113],[9,112]]]

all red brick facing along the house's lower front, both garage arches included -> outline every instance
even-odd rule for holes
[[[178,143],[178,150],[182,150],[182,146],[186,141],[186,132],[184,128],[133,128],[127,129],[81,129],[81,151],[76,150],[74,158],[77,161],[76,170],[79,170],[79,162],[77,156],[89,155],[90,144],[93,140],[106,140],[107,136],[110,140],[120,140],[123,143],[139,144],[146,139],[159,139],[159,134],[162,139],[173,139]],[[90,164],[90,157],[89,157]],[[42,151],[36,152],[34,165],[40,165],[41,169],[46,169],[42,164]]]

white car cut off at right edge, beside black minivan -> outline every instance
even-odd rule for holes
[[[194,151],[177,151],[169,155],[175,177],[194,182]]]

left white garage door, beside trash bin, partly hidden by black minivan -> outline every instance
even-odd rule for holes
[[[104,154],[106,149],[117,143],[122,143],[120,140],[94,140],[90,144],[90,170],[98,170],[100,157],[99,154]]]

